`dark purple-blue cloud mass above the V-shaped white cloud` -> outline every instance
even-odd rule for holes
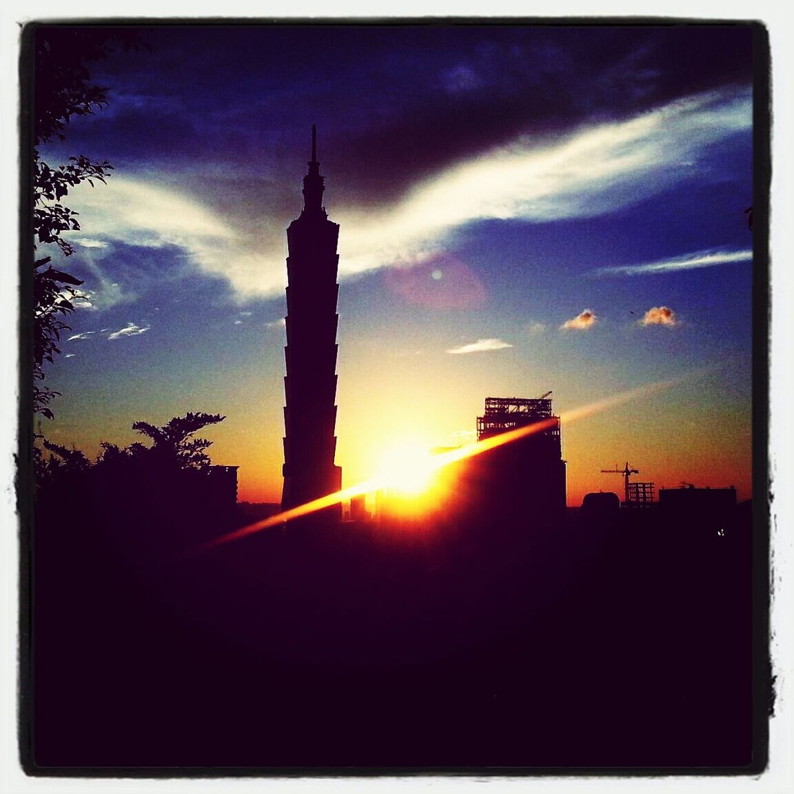
[[[559,136],[750,81],[752,29],[715,25],[170,25],[92,67],[112,104],[70,145],[118,164],[281,177],[320,128],[345,201],[389,202],[519,133]]]

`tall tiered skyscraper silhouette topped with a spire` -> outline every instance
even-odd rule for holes
[[[287,229],[287,376],[284,392],[284,488],[281,508],[310,502],[341,488],[333,464],[337,437],[337,239],[339,225],[322,206],[325,178],[311,128],[303,210]],[[341,515],[341,506],[339,507]]]

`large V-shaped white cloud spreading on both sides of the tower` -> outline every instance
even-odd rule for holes
[[[341,224],[340,275],[421,264],[478,220],[553,222],[614,212],[692,179],[715,145],[751,127],[750,92],[734,91],[698,94],[626,121],[594,123],[552,144],[520,135],[416,183],[402,201],[380,211],[331,206],[333,220]],[[75,188],[70,200],[92,240],[177,245],[196,267],[228,279],[241,299],[283,290],[283,229],[289,218],[283,226],[274,218],[263,235],[150,178],[114,176],[96,190]]]

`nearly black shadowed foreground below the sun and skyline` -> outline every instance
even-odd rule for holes
[[[723,534],[526,516],[277,528],[187,555],[195,524],[44,511],[29,771],[741,771],[747,507]]]

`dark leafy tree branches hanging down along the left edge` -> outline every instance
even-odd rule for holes
[[[33,104],[33,248],[56,245],[63,256],[74,249],[61,237],[80,228],[77,213],[61,202],[71,187],[94,180],[105,182],[113,169],[107,161],[71,156],[67,163],[50,166],[40,156],[40,145],[64,141],[66,126],[75,116],[93,114],[108,104],[107,89],[91,82],[87,64],[104,60],[123,48],[148,48],[136,31],[125,29],[40,26],[33,31],[35,90]],[[52,256],[33,263],[33,410],[52,418],[49,403],[59,394],[45,387],[44,364],[60,353],[60,333],[68,330],[64,317],[81,299],[83,282],[50,264]]]

